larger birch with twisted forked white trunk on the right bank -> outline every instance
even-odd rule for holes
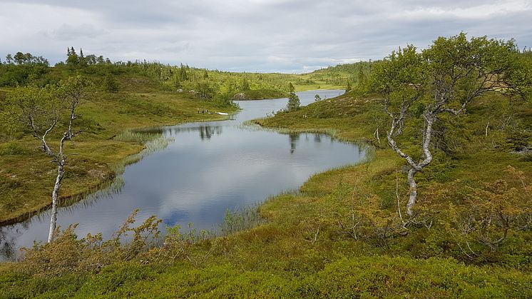
[[[486,36],[467,39],[466,34],[461,33],[440,37],[423,51],[406,46],[392,52],[374,69],[372,88],[383,96],[390,121],[389,146],[409,166],[409,201],[406,204],[409,216],[413,215],[417,199],[416,173],[433,159],[434,123],[443,121],[444,114],[459,116],[471,101],[487,92],[510,91],[517,55],[513,40],[499,41]],[[416,122],[423,124],[418,146],[398,143],[406,121],[412,126]]]

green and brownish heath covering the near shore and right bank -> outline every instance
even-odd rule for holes
[[[227,213],[217,238],[176,227],[161,242],[155,217],[126,221],[118,236],[130,233],[130,243],[80,239],[68,228],[20,263],[0,265],[0,297],[531,297],[532,103],[523,99],[531,61],[516,56],[528,66],[512,74],[519,95],[489,91],[435,121],[413,216],[404,213],[409,168],[385,144],[385,101],[361,81],[255,122],[365,141],[374,146],[369,161],[312,176],[256,211]],[[420,107],[397,136],[413,153],[423,141]],[[28,151],[16,141],[0,149]]]

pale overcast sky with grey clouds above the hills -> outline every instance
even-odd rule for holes
[[[2,60],[21,51],[55,64],[73,46],[113,61],[303,73],[461,31],[532,46],[532,0],[0,0],[0,28]]]

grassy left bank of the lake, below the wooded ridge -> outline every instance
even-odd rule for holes
[[[133,81],[139,87],[129,91]],[[116,170],[131,162],[128,157],[145,147],[142,139],[115,138],[117,134],[136,128],[224,119],[217,114],[198,113],[203,109],[235,111],[190,98],[187,93],[161,91],[142,77],[122,78],[121,90],[100,91],[80,106],[81,116],[74,124],[86,132],[66,143],[66,152],[74,155],[69,158],[61,188],[63,202],[75,201],[113,180]],[[0,223],[20,221],[47,208],[51,201],[56,168],[22,125],[15,124],[7,131],[11,136],[4,136],[0,143]],[[58,133],[51,140],[58,140]]]

